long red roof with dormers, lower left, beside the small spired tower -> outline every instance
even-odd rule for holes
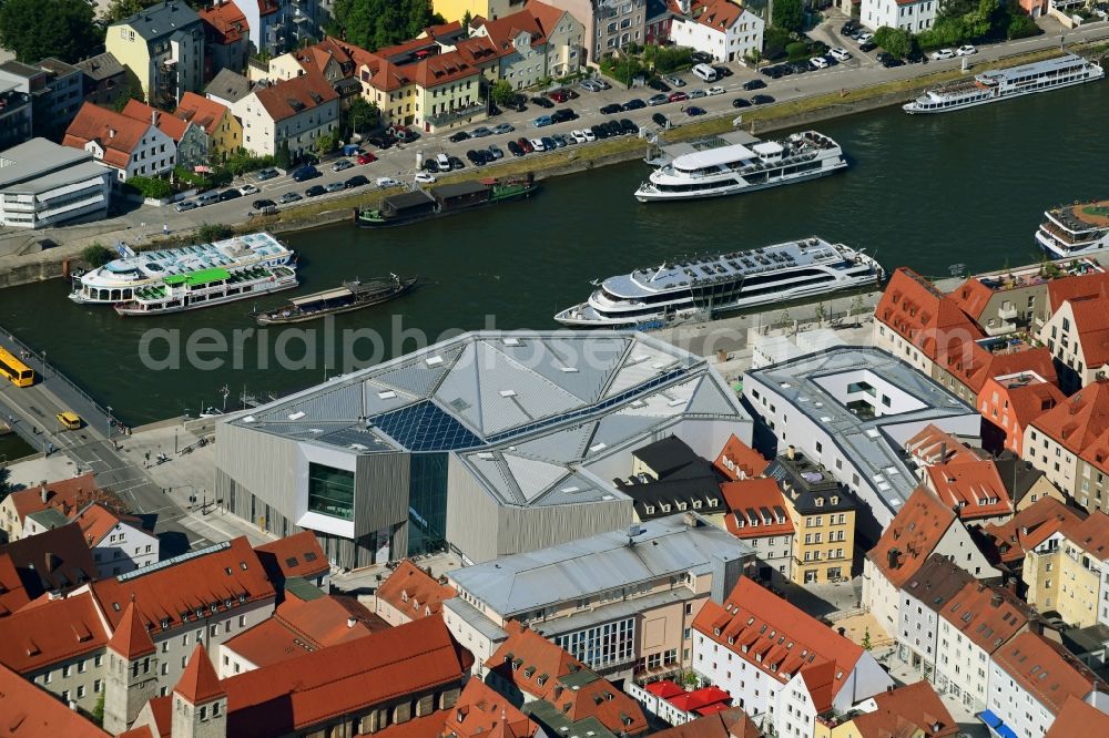
[[[113,627],[123,618],[126,603],[134,602],[143,625],[152,633],[181,626],[182,614],[195,627],[210,616],[213,605],[223,613],[248,603],[273,601],[276,593],[246,539],[237,537],[221,546],[171,566],[132,572],[122,581],[114,577],[94,582],[92,593]],[[201,617],[196,611],[201,611]],[[162,628],[163,619],[166,628]]]

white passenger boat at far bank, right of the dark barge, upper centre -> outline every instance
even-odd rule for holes
[[[650,203],[735,195],[823,177],[846,167],[840,144],[816,131],[805,131],[782,141],[682,154],[652,172],[635,191],[635,198]]]

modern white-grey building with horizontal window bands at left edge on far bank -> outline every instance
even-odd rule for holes
[[[45,228],[106,217],[111,185],[111,172],[90,153],[31,139],[0,152],[0,223]]]

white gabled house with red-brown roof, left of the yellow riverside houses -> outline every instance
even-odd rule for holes
[[[339,124],[339,96],[319,74],[258,85],[231,106],[243,123],[243,148],[274,156],[284,146],[296,160]]]

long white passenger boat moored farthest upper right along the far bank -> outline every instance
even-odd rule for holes
[[[1093,82],[1105,76],[1105,70],[1093,61],[1077,54],[1064,54],[1031,64],[1010,66],[975,74],[973,80],[959,80],[932,90],[902,109],[906,113],[948,113],[975,105],[1069,88]]]

